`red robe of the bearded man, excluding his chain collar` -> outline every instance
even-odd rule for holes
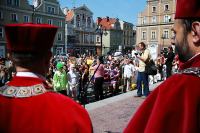
[[[200,68],[200,55],[181,69]],[[124,133],[200,133],[200,77],[175,74],[137,110]]]

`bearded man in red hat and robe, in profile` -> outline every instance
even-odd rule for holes
[[[177,0],[172,31],[183,64],[147,97],[124,133],[200,132],[200,0]]]

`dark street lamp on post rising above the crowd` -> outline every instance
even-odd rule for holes
[[[106,28],[102,25],[98,25],[96,29],[96,33],[100,35],[100,44],[101,44],[101,55],[103,55],[103,35],[107,35]]]

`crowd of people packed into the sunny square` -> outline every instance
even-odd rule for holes
[[[143,73],[144,64],[141,64],[139,59],[144,50],[142,51],[142,49],[139,48],[140,44],[132,50],[132,53],[127,53],[121,57],[112,55],[102,57],[101,67],[103,68],[98,68],[102,71],[100,73],[99,70],[95,72],[98,66],[96,65],[98,61],[97,56],[53,56],[50,59],[50,66],[46,74],[46,82],[54,91],[70,96],[77,102],[80,102],[81,93],[87,92],[88,84],[93,85],[95,101],[104,98],[105,90],[110,91],[111,96],[113,96],[119,92],[127,92],[137,88],[139,91],[138,95],[142,96],[142,86],[144,87],[144,91],[146,91],[144,95],[147,96],[149,93],[149,84],[165,80],[169,77],[172,72],[172,67],[174,68],[173,72],[177,69],[177,62],[174,60],[173,49],[169,46],[168,53],[164,54],[164,52],[162,52],[158,58],[154,60],[158,73],[156,75],[147,75],[145,77],[147,79],[145,80]],[[142,46],[146,47],[146,44],[142,43]],[[148,50],[148,48],[146,50]],[[150,53],[148,52],[147,54],[149,54],[149,58],[151,58]],[[141,70],[143,71],[142,76]],[[1,86],[10,81],[15,73],[13,63],[8,58],[2,58],[0,75]],[[93,74],[95,74],[96,77]],[[96,81],[97,79],[101,80],[95,82],[94,79]]]

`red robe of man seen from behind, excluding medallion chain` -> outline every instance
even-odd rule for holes
[[[14,77],[9,86],[44,84],[33,77]],[[91,133],[86,110],[64,95],[45,92],[26,98],[0,95],[0,133]]]

